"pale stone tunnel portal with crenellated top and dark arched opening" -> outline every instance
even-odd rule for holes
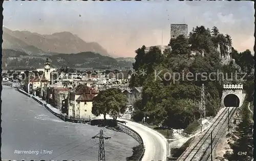
[[[245,95],[243,93],[243,84],[224,84],[221,107],[241,107]]]

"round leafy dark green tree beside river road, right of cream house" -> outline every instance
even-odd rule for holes
[[[126,96],[120,89],[110,88],[100,91],[93,99],[92,113],[95,116],[103,114],[104,120],[106,120],[106,114],[110,114],[116,121],[120,113],[124,113],[126,108]]]

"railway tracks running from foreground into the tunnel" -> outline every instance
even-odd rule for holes
[[[236,108],[225,107],[221,114],[215,119],[214,123],[211,124],[210,128],[199,137],[198,141],[189,146],[185,152],[177,159],[179,161],[206,161],[210,156],[210,134],[212,133],[212,148],[214,148],[222,135],[224,129],[227,127],[228,120],[228,108],[229,118],[233,115]]]

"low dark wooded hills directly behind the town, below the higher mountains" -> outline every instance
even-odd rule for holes
[[[131,67],[132,63],[128,61],[117,61],[109,56],[102,56],[93,52],[82,52],[78,54],[57,54],[48,56],[53,67],[69,66],[72,68],[121,68]],[[42,68],[46,56],[32,56],[24,52],[18,52],[10,49],[3,50],[3,65],[6,70],[15,68]]]

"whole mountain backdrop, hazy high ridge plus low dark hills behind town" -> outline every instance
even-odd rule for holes
[[[113,58],[97,42],[86,42],[70,32],[41,35],[3,27],[2,68],[42,68],[46,57],[53,67],[132,67],[134,58]]]

